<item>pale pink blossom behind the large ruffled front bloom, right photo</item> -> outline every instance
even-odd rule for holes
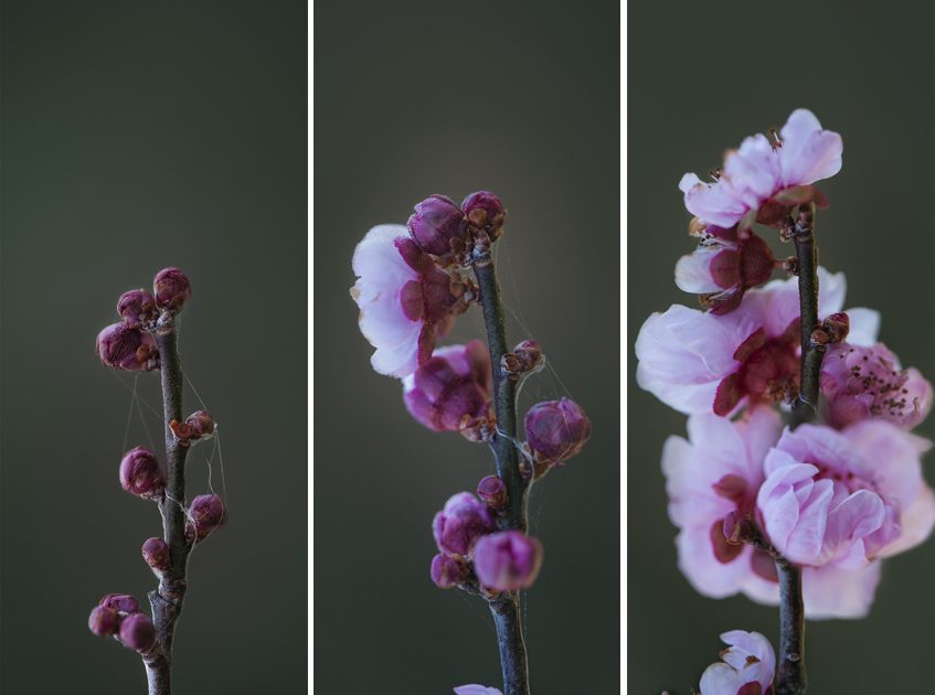
[[[763,461],[780,429],[778,413],[761,406],[733,423],[713,414],[693,415],[688,440],[671,436],[666,441],[662,471],[669,517],[679,528],[679,569],[702,596],[742,592],[759,603],[779,602],[773,559],[753,546],[727,543],[723,527],[731,513],[755,514],[756,492],[765,478]],[[879,580],[879,562],[857,570],[805,567],[806,617],[862,618]]]

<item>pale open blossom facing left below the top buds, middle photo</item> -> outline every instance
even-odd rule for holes
[[[403,377],[425,364],[471,293],[464,278],[438,268],[402,225],[370,229],[354,249],[353,270],[360,330],[376,349],[370,362],[389,376]]]

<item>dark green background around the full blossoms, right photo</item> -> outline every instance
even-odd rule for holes
[[[716,660],[725,630],[758,630],[774,645],[778,638],[775,608],[702,598],[676,568],[659,455],[668,435],[683,435],[686,418],[631,378],[646,317],[693,301],[672,284],[676,259],[692,247],[679,178],[703,174],[746,135],[811,108],[844,141],[843,169],[822,184],[831,201],[817,223],[822,264],[847,272],[847,306],[882,312],[882,338],[903,363],[935,376],[933,7],[630,6],[629,692],[687,693]],[[935,435],[932,417],[921,434]],[[925,466],[935,480],[932,455]],[[935,691],[934,547],[929,539],[885,563],[868,619],[808,624],[809,693]]]

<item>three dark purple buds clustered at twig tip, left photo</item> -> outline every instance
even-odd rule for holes
[[[132,289],[117,300],[118,323],[105,327],[94,342],[97,356],[106,366],[130,372],[159,368],[156,331],[159,311],[177,312],[191,296],[185,274],[178,268],[163,268],[156,274],[153,293]]]

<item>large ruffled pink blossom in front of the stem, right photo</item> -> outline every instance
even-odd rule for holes
[[[921,543],[935,524],[920,461],[929,446],[885,420],[786,429],[756,500],[769,541],[794,563],[842,569]]]

